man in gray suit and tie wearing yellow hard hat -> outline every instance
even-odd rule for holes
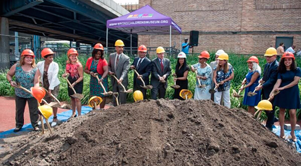
[[[115,75],[119,80],[116,81],[113,77],[111,77],[111,83],[113,86],[113,92],[119,93],[119,103],[125,104],[126,102],[126,93],[120,92],[123,91],[121,83],[127,89],[128,81],[127,81],[127,73],[129,70],[129,57],[123,54],[124,44],[122,40],[117,40],[115,42],[116,53],[112,53],[109,56],[109,75]],[[113,105],[116,106],[116,100],[113,100]]]

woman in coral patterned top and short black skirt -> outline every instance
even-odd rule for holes
[[[72,87],[76,91],[76,93],[83,93],[83,84],[84,84],[84,72],[83,72],[83,65],[79,62],[77,59],[78,53],[74,48],[71,48],[68,50],[67,53],[68,60],[66,64],[66,70],[65,73],[62,75],[63,77],[67,77],[68,74],[68,80],[72,84]],[[68,74],[67,74],[68,73]],[[71,106],[72,106],[72,117],[76,117],[76,108],[77,113],[80,116],[81,115],[81,101],[78,98],[74,98],[71,95],[73,95],[73,90],[68,86],[68,95],[71,98]]]

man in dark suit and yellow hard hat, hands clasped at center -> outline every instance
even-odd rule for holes
[[[158,58],[152,60],[152,78],[150,78],[150,85],[153,86],[152,99],[156,100],[158,93],[159,98],[164,98],[166,88],[168,85],[167,79],[171,74],[171,62],[169,59],[164,58],[165,50],[163,47],[157,48]],[[166,81],[162,83],[162,81]]]

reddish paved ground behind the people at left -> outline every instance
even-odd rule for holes
[[[105,107],[107,108],[107,106]],[[66,109],[58,109],[58,113],[66,111]],[[0,96],[0,132],[15,128],[16,120],[16,103],[14,97]],[[30,123],[28,104],[24,111],[24,124]]]

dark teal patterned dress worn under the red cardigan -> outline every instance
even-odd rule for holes
[[[97,73],[97,64],[98,64],[98,61],[92,61],[92,64],[91,64],[91,68],[90,68],[90,71],[91,72],[94,72],[94,73]],[[99,78],[101,78],[101,75],[98,75]],[[108,88],[108,77],[104,78],[102,80],[102,84],[105,88],[106,91],[109,90]],[[100,94],[100,93],[103,93],[103,89],[101,87],[100,84],[98,84],[98,80],[96,77],[93,77],[91,76],[90,77],[90,95],[91,96],[99,96],[99,97],[104,97],[103,94]]]

